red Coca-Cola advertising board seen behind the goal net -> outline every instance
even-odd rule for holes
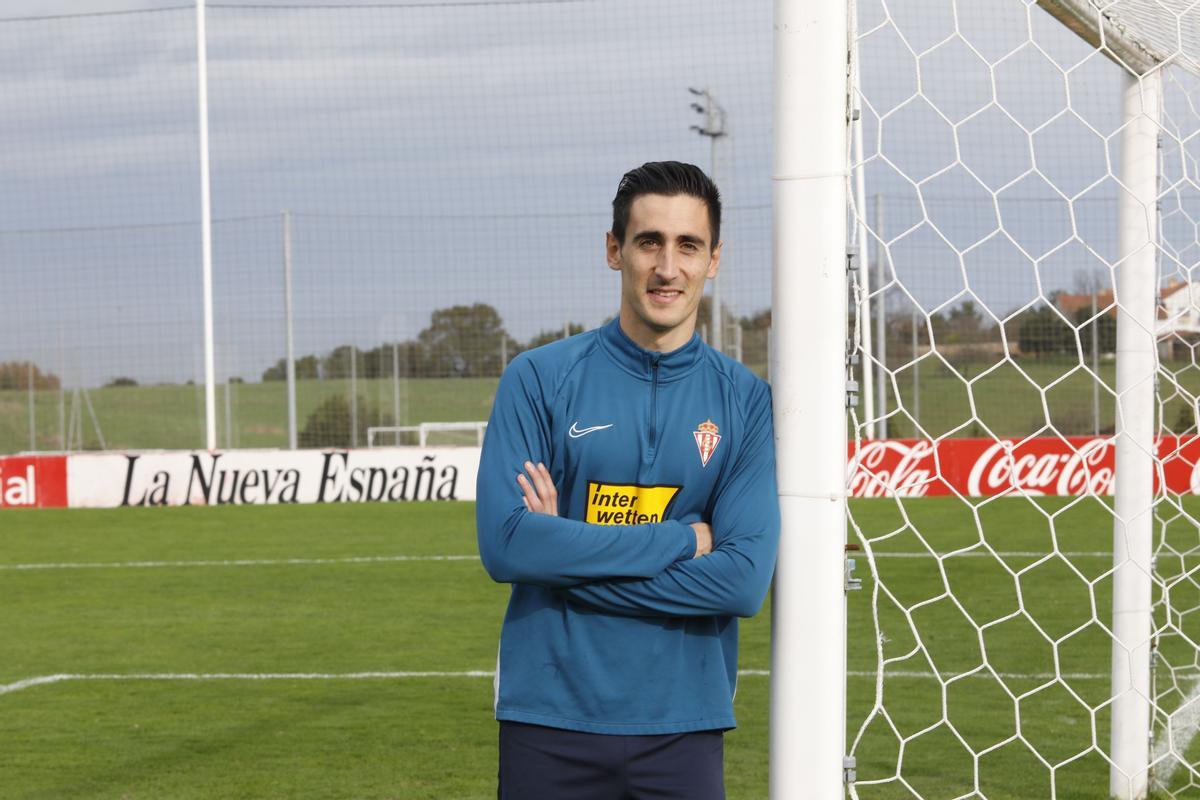
[[[1114,437],[1037,439],[923,439],[851,443],[850,495],[990,497],[1112,494]],[[1154,485],[1200,494],[1200,437],[1156,440]]]

